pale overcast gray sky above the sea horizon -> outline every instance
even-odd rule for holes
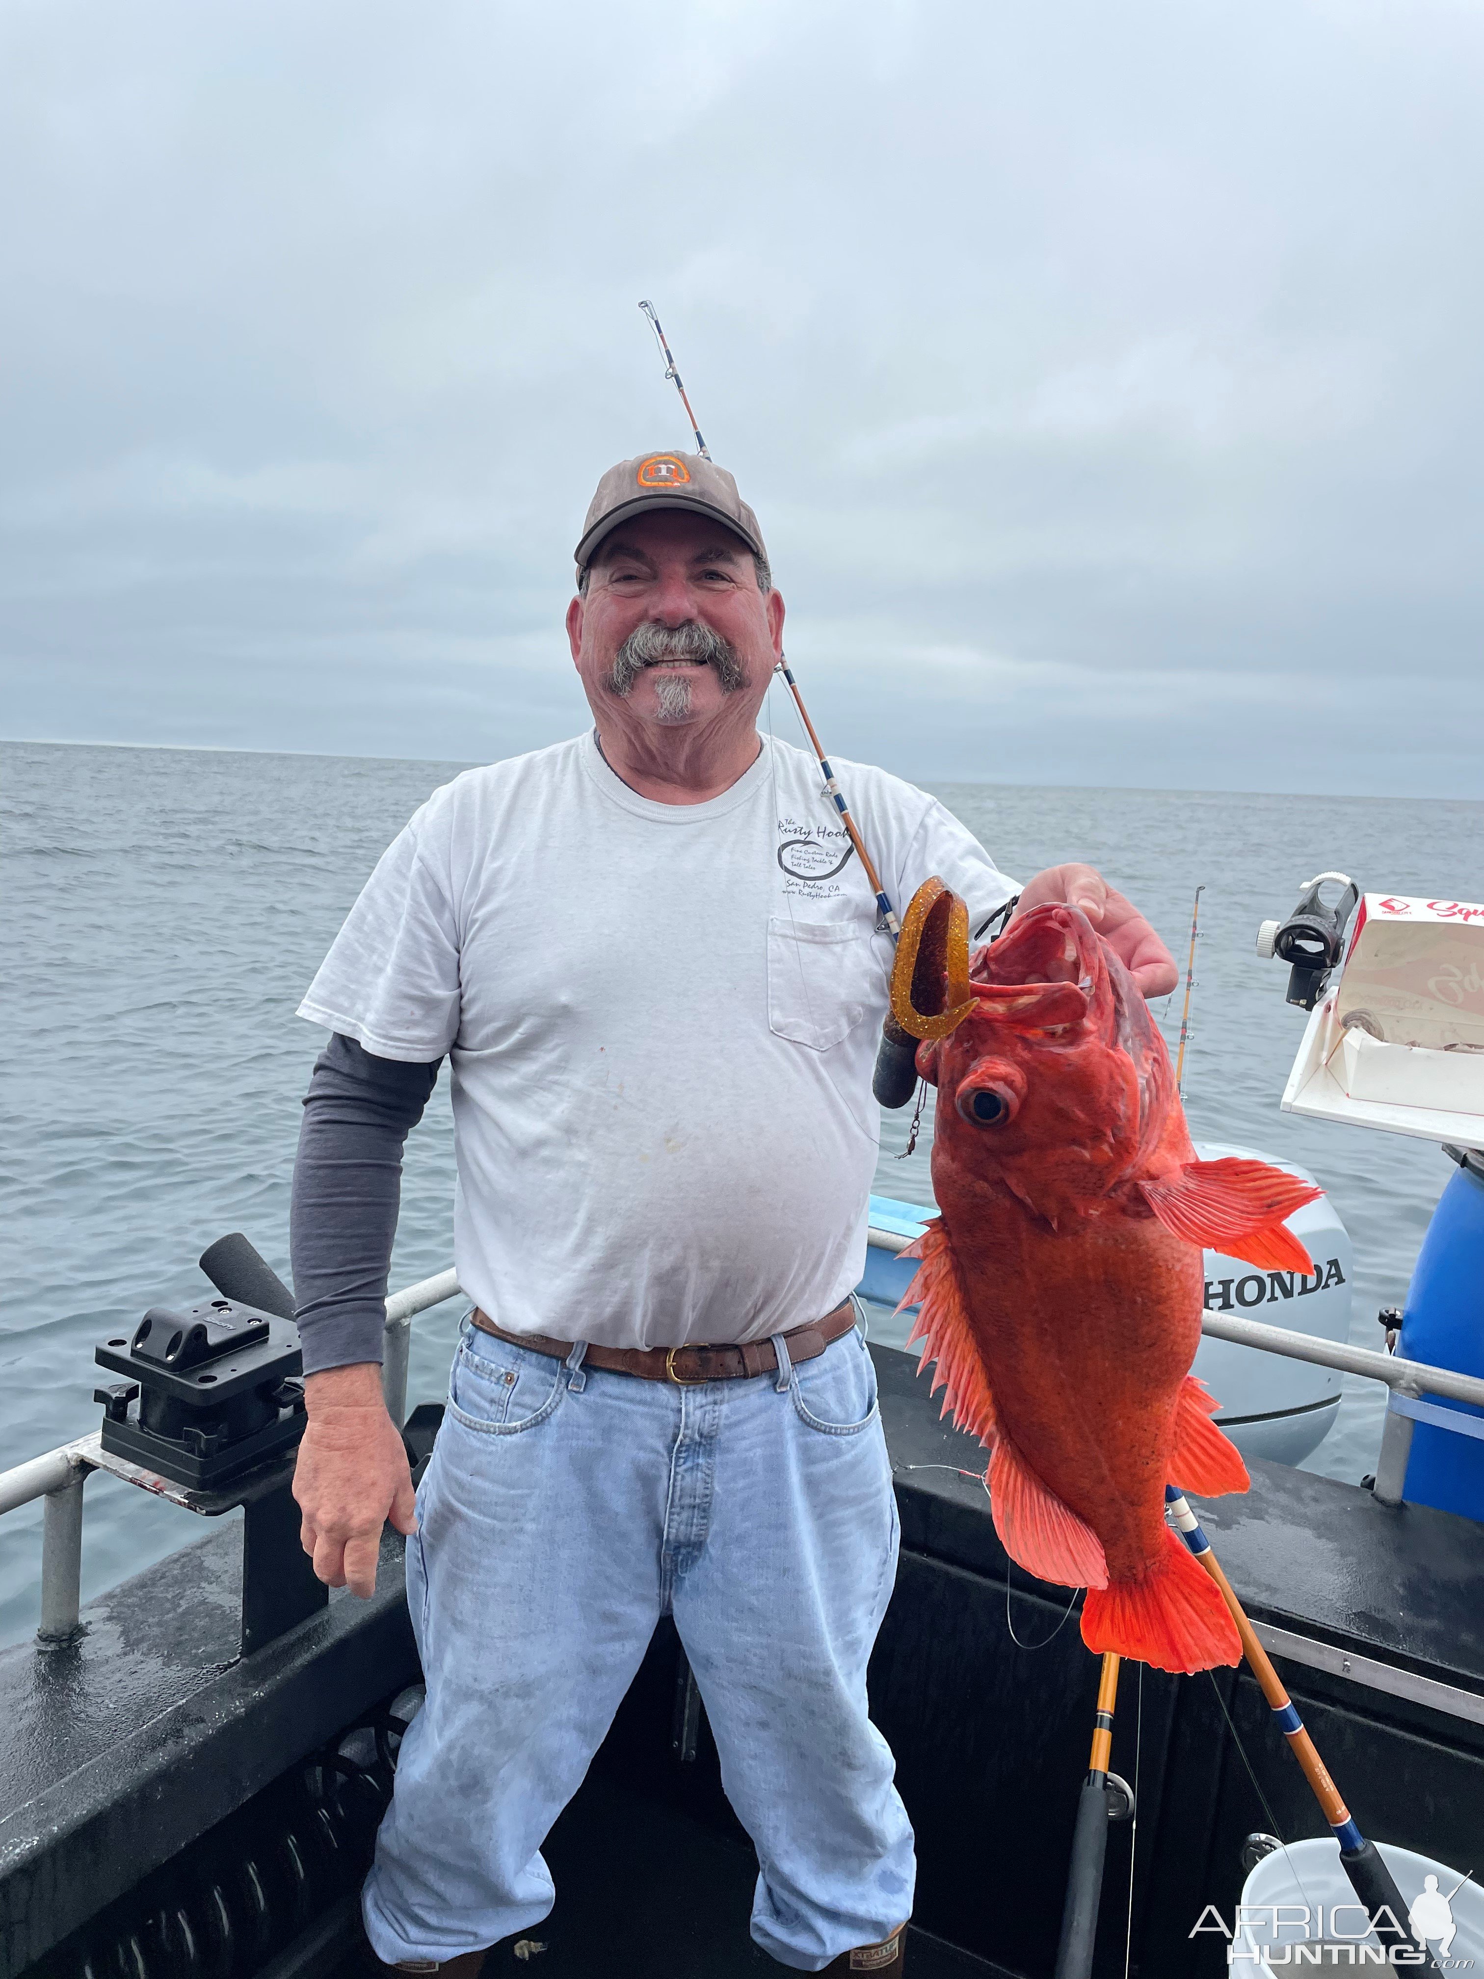
[[[1484,796],[1480,0],[6,0],[0,91],[4,734],[572,734],[647,295],[839,754]]]

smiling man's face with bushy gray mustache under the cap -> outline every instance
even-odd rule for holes
[[[695,732],[752,724],[782,653],[784,600],[764,598],[730,528],[659,509],[600,546],[566,627],[600,722]]]

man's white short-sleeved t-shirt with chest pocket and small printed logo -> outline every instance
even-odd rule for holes
[[[835,764],[898,912],[1013,891],[924,792]],[[453,1257],[512,1332],[758,1340],[865,1269],[890,938],[819,766],[764,740],[653,803],[592,734],[435,790],[299,1015],[453,1071]]]

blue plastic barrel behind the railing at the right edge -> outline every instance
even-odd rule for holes
[[[1472,1166],[1458,1170],[1433,1211],[1397,1352],[1433,1367],[1484,1375],[1484,1176]],[[1427,1399],[1440,1409],[1484,1415],[1462,1401]],[[1403,1498],[1484,1520],[1484,1443],[1417,1423]]]

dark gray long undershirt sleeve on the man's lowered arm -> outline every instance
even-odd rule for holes
[[[315,1061],[289,1209],[305,1373],[382,1358],[402,1148],[441,1063],[376,1059],[338,1031]]]

